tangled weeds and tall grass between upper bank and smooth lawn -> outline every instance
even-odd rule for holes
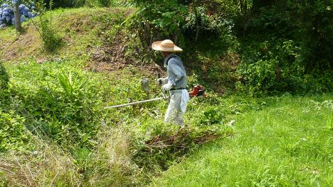
[[[1,137],[10,136],[1,141],[0,177],[6,184],[146,185],[203,143],[232,136],[225,125],[232,115],[264,106],[241,97],[195,98],[185,116],[189,128],[178,131],[162,122],[167,101],[104,109],[146,99],[139,84],[146,73],[93,73],[84,64],[70,57],[6,63],[10,81],[0,102]],[[152,85],[149,97],[158,96],[160,89]]]

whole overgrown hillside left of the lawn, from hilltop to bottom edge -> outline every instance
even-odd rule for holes
[[[8,90],[1,90],[1,123],[8,127],[1,135],[1,185],[144,186],[197,145],[230,136],[228,127],[192,117],[227,121],[201,113],[220,98],[194,100],[187,116],[191,130],[180,132],[162,122],[166,100],[104,109],[161,96],[155,80],[165,71],[137,56],[135,33],[122,24],[132,12],[48,12],[62,38],[53,52],[44,49],[34,26],[39,17],[24,23],[18,37],[12,27],[0,30],[1,61],[10,78]],[[144,77],[151,80],[148,94],[140,86]],[[196,75],[189,80],[195,84]]]

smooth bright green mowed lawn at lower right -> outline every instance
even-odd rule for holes
[[[333,186],[333,95],[283,96],[151,186]]]

